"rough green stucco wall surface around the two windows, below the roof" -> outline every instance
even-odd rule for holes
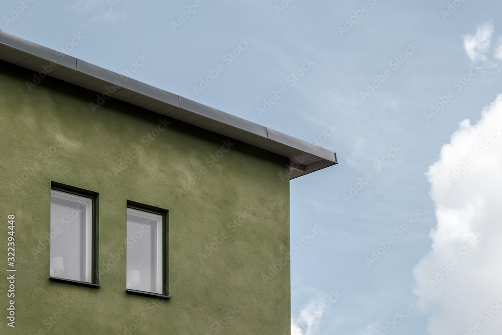
[[[93,113],[96,93],[32,80],[0,62],[0,271],[8,214],[18,270],[15,328],[0,279],[0,333],[290,333],[286,158],[231,140],[216,162],[227,138],[113,99]],[[51,182],[99,193],[98,289],[49,280]],[[125,292],[127,200],[169,210],[167,302]]]

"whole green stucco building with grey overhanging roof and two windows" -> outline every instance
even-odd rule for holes
[[[0,134],[0,333],[290,333],[289,180],[333,152],[5,32]]]

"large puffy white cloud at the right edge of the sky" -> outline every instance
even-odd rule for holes
[[[430,233],[432,250],[414,269],[414,292],[430,316],[430,335],[463,334],[476,322],[484,334],[502,329],[496,307],[502,297],[501,130],[502,94],[477,124],[461,122],[429,167],[437,228]]]

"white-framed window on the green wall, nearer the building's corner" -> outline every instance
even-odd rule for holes
[[[160,212],[128,207],[128,290],[164,294],[164,218]]]

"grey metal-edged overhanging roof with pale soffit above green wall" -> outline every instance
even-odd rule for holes
[[[337,164],[327,149],[3,31],[0,59],[287,157],[290,179]]]

